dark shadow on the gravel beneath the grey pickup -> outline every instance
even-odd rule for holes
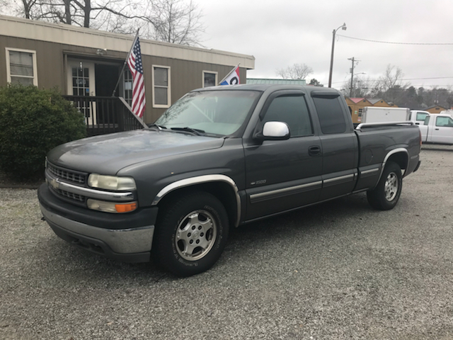
[[[269,242],[272,243],[276,237],[280,244],[290,243],[294,237],[301,239],[303,243],[306,234],[316,237],[328,229],[344,228],[345,219],[361,220],[362,215],[370,209],[365,194],[360,193],[243,225],[231,230],[219,266],[229,266],[224,260],[225,257],[241,257],[241,253],[246,256],[251,246],[266,249]],[[50,256],[58,263],[56,266],[64,268],[64,280],[80,281],[83,285],[108,283],[110,286],[141,286],[178,280],[175,276],[161,271],[152,262],[123,263],[106,259],[75,246],[68,246],[57,237],[49,239],[45,246],[52,251]],[[45,261],[40,263],[41,266],[50,264]],[[207,275],[214,275],[215,268],[216,266],[212,268],[212,273]],[[43,269],[57,275],[56,268]]]

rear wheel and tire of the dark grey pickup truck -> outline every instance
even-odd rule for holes
[[[395,162],[388,162],[376,188],[367,191],[368,203],[377,210],[393,209],[398,203],[402,188],[401,168]]]

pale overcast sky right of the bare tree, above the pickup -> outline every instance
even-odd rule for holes
[[[253,55],[251,78],[278,78],[275,69],[306,64],[327,86],[332,31],[338,30],[332,86],[354,73],[377,79],[388,64],[416,88],[453,87],[453,0],[194,0],[202,9],[202,45]],[[345,38],[399,42],[390,44]],[[406,45],[449,44],[449,45]]]

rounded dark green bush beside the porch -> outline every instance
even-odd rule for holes
[[[12,179],[37,179],[50,149],[85,136],[83,115],[57,89],[0,88],[0,169]]]

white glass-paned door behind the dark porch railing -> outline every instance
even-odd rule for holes
[[[68,59],[67,90],[70,96],[96,96],[94,62]],[[88,125],[96,125],[96,103],[88,98],[75,101],[76,107],[84,113]]]

